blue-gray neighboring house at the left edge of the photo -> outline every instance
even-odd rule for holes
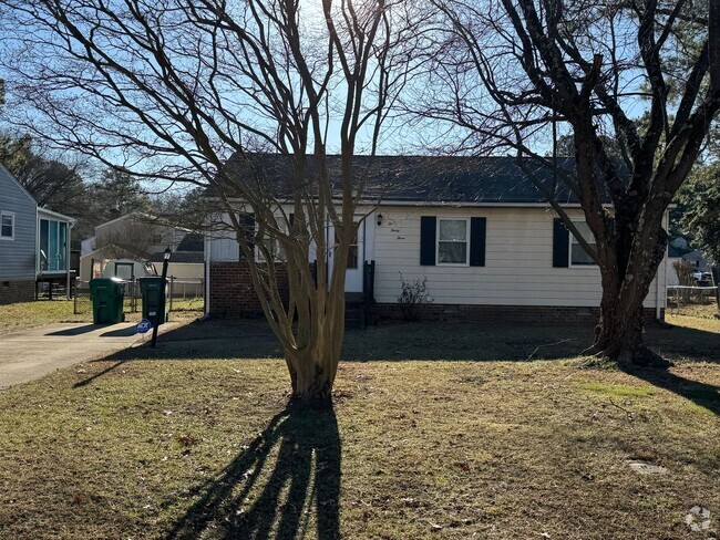
[[[33,300],[37,283],[68,288],[70,237],[75,220],[38,208],[32,196],[0,165],[0,303]]]

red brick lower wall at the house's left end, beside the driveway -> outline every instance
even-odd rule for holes
[[[275,271],[278,276],[280,294],[286,301],[289,289],[285,263],[275,263]],[[236,318],[264,315],[247,262],[210,263],[210,315]]]

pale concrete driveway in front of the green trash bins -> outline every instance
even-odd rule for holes
[[[148,339],[150,333],[145,334]],[[0,335],[0,390],[141,342],[135,323],[49,324]]]

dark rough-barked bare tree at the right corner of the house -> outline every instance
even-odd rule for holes
[[[557,178],[582,205],[595,246],[558,202],[558,186],[536,183],[600,270],[589,352],[655,361],[642,341],[642,301],[666,249],[665,211],[720,108],[719,2],[700,10],[686,0],[432,3],[443,21],[422,115],[461,128],[457,148],[512,148],[521,163],[547,166],[553,159],[539,154],[551,125],[570,127],[575,170]],[[641,123],[629,113],[638,110]]]

